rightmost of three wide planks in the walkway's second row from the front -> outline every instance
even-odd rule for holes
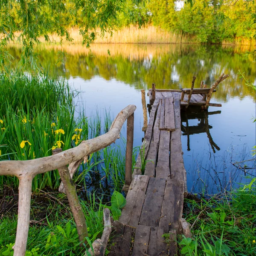
[[[170,229],[181,233],[183,192],[184,182],[182,180],[167,180],[159,222],[159,227],[163,227],[164,233],[169,233]]]

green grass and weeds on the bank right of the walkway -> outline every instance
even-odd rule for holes
[[[192,239],[180,238],[181,255],[250,256],[256,250],[256,186],[242,186],[212,198],[185,199],[183,216]]]

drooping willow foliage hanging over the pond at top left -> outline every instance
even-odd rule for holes
[[[72,42],[67,27],[79,26],[82,44],[89,47],[97,37],[113,33],[124,5],[125,0],[0,0],[2,70],[11,58],[7,50],[10,41],[22,44],[21,62],[33,66],[34,47],[40,43],[40,36],[50,41],[49,34],[54,32],[61,40]]]

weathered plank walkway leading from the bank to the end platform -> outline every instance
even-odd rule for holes
[[[114,221],[111,256],[176,253],[175,237],[183,233],[183,198],[186,195],[180,94],[169,91],[156,95],[126,206],[119,221]],[[141,158],[145,159],[143,163]],[[165,242],[163,234],[167,234],[171,242]]]

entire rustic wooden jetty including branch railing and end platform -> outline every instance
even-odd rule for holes
[[[219,106],[220,104],[211,104],[210,99],[215,87],[227,77],[228,75],[222,74],[209,89],[205,88],[203,82],[200,89],[194,89],[195,77],[191,89],[156,90],[155,84],[152,85],[152,90],[148,93],[151,102],[150,119],[148,124],[146,119],[144,122],[144,128],[147,128],[133,176],[131,166],[136,109],[134,105],[127,106],[116,116],[106,134],[83,141],[75,148],[63,152],[58,149],[53,151],[52,156],[34,160],[0,161],[0,175],[14,175],[19,179],[14,256],[25,256],[26,253],[32,180],[35,175],[55,169],[58,169],[63,183],[59,190],[67,194],[79,241],[83,245],[82,242],[88,236],[87,226],[72,177],[80,163],[87,160],[88,155],[116,141],[125,120],[127,120],[127,145],[124,189],[128,191],[127,203],[122,209],[119,221],[114,221],[112,224],[114,231],[110,255],[175,255],[176,235],[184,233],[185,236],[191,236],[189,225],[182,218],[183,199],[187,195],[187,189],[180,139],[180,109],[186,109],[190,105],[203,109],[207,109],[210,105]],[[143,109],[146,117],[145,104]],[[87,251],[90,255],[105,255],[112,226],[110,212],[106,208],[102,237],[93,242],[92,248]],[[167,234],[168,243],[165,242],[163,234]]]

